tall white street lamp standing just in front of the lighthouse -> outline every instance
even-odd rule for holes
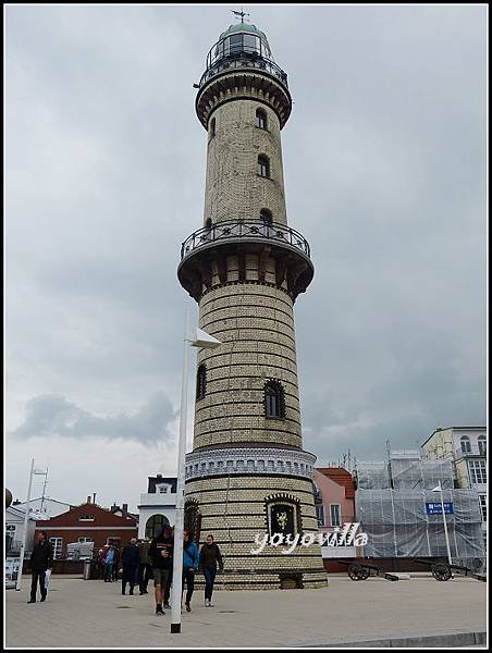
[[[173,592],[171,601],[171,632],[181,632],[181,594],[183,586],[183,523],[184,523],[184,469],[186,453],[186,416],[188,398],[188,346],[214,349],[221,342],[201,329],[188,338],[188,311],[185,317],[183,346],[183,378],[181,384],[180,441],[177,447],[176,520],[174,525]]]

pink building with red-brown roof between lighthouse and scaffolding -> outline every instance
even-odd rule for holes
[[[335,527],[355,521],[355,486],[352,475],[342,467],[317,467],[313,472],[315,507],[320,532],[333,532]],[[345,571],[336,558],[360,555],[356,546],[322,546],[327,571]]]

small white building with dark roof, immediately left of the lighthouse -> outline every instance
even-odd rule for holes
[[[174,526],[176,517],[176,478],[158,473],[149,477],[148,490],[140,494],[138,538],[155,538],[163,526]]]

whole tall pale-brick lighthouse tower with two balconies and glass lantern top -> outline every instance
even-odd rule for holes
[[[213,534],[227,589],[324,586],[318,544],[251,554],[256,537],[318,531],[293,316],[313,267],[285,211],[287,76],[266,35],[242,22],[211,48],[196,86],[208,134],[204,225],[183,243],[177,275],[200,329],[222,345],[198,354],[185,522],[200,542]]]

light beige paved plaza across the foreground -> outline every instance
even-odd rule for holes
[[[29,578],[25,577],[20,592],[7,591],[5,644],[268,648],[360,645],[391,639],[396,645],[401,638],[447,634],[446,645],[456,645],[464,643],[463,633],[470,633],[465,643],[473,645],[471,633],[485,631],[483,582],[468,578],[439,582],[425,575],[398,582],[381,578],[354,582],[345,575],[329,578],[330,586],[320,590],[218,591],[213,608],[204,606],[202,592],[197,591],[193,612],[182,616],[182,633],[171,634],[171,611],[156,617],[151,593],[122,596],[119,582],[54,576],[48,600],[27,605]],[[425,645],[425,640],[413,642]],[[475,643],[481,643],[477,636]]]

